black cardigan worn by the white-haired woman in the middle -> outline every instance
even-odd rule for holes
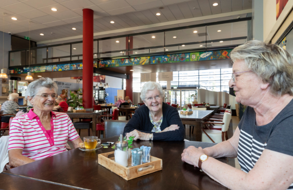
[[[151,132],[154,125],[150,122],[149,119],[149,109],[144,104],[140,106],[137,110],[135,110],[135,114],[132,118],[128,121],[124,128],[125,133],[129,133],[134,129],[141,131],[143,133],[152,133],[153,140],[184,140],[185,138],[185,129],[180,119],[179,113],[175,107],[172,107],[166,103],[162,105],[163,109],[163,122],[160,126],[161,130],[163,131],[167,127],[172,124],[178,125],[180,128],[176,129],[175,131],[167,131],[161,133]]]

